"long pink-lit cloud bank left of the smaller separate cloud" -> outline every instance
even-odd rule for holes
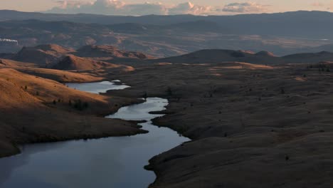
[[[174,14],[221,14],[219,9],[213,6],[200,6],[186,2],[174,6],[162,3],[125,4],[117,0],[97,0],[97,1],[56,1],[59,6],[46,12],[60,14],[107,14],[107,15],[133,15],[141,16],[147,14],[174,15]]]

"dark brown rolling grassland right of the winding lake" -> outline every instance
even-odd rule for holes
[[[150,160],[151,187],[332,186],[329,68],[248,63],[141,66],[109,94],[169,98],[155,125],[193,139]]]

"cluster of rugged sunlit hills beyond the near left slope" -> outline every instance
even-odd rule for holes
[[[3,54],[3,58],[35,63],[41,68],[54,67],[62,70],[86,71],[115,66],[102,61],[109,61],[111,63],[136,63],[153,57],[139,52],[121,51],[114,46],[83,46],[78,51],[75,51],[56,44],[47,44],[24,47],[18,53]]]

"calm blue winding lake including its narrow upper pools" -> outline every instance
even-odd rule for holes
[[[75,87],[89,85],[89,92],[99,93],[114,86],[101,91],[101,84],[95,83],[96,90],[92,90],[93,83]],[[152,125],[150,120],[161,115],[149,112],[164,110],[167,104],[162,98],[148,98],[145,103],[121,108],[107,116],[147,120],[140,124],[149,130],[144,135],[25,145],[21,155],[0,159],[0,187],[148,187],[155,179],[154,172],[143,168],[148,160],[189,140],[173,130]]]

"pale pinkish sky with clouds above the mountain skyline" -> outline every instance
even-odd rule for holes
[[[108,15],[228,15],[298,10],[333,11],[333,0],[0,0],[0,9]]]

